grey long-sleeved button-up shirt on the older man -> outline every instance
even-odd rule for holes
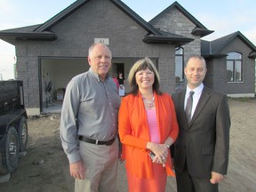
[[[117,134],[120,98],[116,84],[107,76],[89,71],[68,83],[60,118],[60,139],[69,163],[80,160],[77,135],[111,140]]]

